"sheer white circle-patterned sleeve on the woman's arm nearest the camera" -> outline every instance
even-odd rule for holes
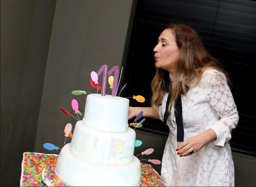
[[[212,70],[208,75],[203,77],[203,79],[203,81],[208,84],[206,92],[209,104],[220,117],[220,119],[210,127],[217,135],[214,144],[224,146],[224,144],[231,139],[231,132],[236,128],[239,121],[237,107],[228,87],[227,79],[223,73]]]

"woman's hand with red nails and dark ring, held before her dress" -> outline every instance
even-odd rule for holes
[[[184,141],[178,148],[176,149],[177,155],[180,156],[189,156],[196,152],[198,152],[203,146],[216,140],[217,136],[212,129],[208,129],[205,132],[202,132],[199,135],[196,135],[192,138],[187,139]],[[189,149],[194,150],[192,154],[189,154]]]

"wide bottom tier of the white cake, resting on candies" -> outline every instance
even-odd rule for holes
[[[62,148],[55,172],[68,186],[139,186],[141,182],[141,163],[137,157],[125,166],[92,164],[75,158],[70,153],[70,143]]]

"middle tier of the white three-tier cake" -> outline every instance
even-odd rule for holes
[[[108,166],[122,166],[133,162],[136,134],[127,132],[104,132],[76,123],[70,152],[86,162]]]

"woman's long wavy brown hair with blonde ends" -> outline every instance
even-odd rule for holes
[[[171,106],[174,106],[180,92],[182,91],[186,95],[186,86],[191,88],[200,82],[205,69],[213,68],[222,72],[228,82],[230,82],[227,73],[221,68],[220,63],[206,51],[200,36],[198,36],[194,29],[188,25],[176,23],[165,25],[162,31],[165,29],[171,29],[177,47],[180,50],[173,72],[172,87],[169,90],[172,95],[168,107],[169,112],[171,111]],[[151,82],[153,92],[151,106],[156,109],[161,105],[164,94],[166,93],[164,83],[169,80],[169,72],[161,68],[155,67],[155,69],[156,74]],[[182,73],[184,76],[180,84],[178,80]],[[176,110],[175,106],[174,110]]]

